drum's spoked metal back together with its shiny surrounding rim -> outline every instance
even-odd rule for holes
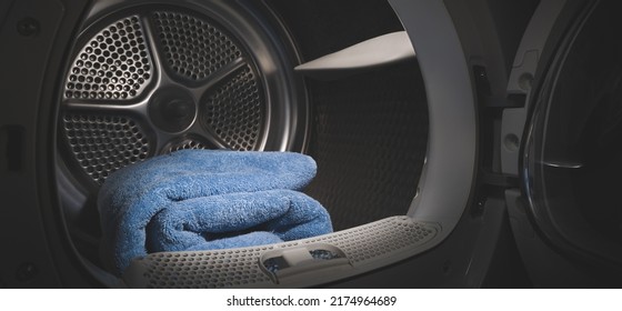
[[[59,78],[57,183],[72,242],[99,261],[99,187],[181,149],[303,151],[298,52],[263,4],[122,1],[93,8]]]

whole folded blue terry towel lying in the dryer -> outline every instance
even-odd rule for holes
[[[330,233],[325,209],[301,190],[310,157],[183,150],[111,174],[99,192],[102,255],[121,274],[159,251],[269,244]]]

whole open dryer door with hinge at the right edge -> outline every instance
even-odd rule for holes
[[[542,1],[516,53],[509,92],[525,106],[504,111],[500,153],[504,172],[521,177],[506,199],[538,287],[620,285],[616,10]]]

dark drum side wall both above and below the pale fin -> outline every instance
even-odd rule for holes
[[[305,60],[402,30],[387,1],[271,3]],[[308,80],[308,87],[313,118],[309,154],[318,161],[318,175],[307,193],[329,209],[335,230],[404,214],[428,143],[417,62],[337,81]]]

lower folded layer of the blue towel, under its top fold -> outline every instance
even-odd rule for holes
[[[331,230],[320,203],[291,190],[203,197],[172,205],[147,227],[147,244],[152,251],[241,248]]]

